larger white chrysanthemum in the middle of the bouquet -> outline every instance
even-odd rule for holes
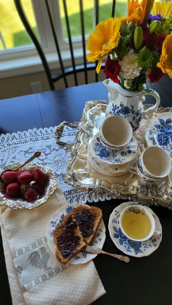
[[[121,66],[121,76],[123,78],[132,78],[140,75],[140,68],[137,64],[137,55],[129,52],[128,55],[124,56],[123,61],[119,61]],[[126,87],[127,88],[127,87]]]

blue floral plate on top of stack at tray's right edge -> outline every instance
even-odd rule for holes
[[[172,160],[172,113],[159,114],[145,133],[147,146],[158,146],[165,150]]]

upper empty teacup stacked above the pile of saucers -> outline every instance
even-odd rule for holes
[[[110,147],[123,147],[130,142],[132,136],[132,127],[123,117],[108,117],[101,126],[101,141]]]

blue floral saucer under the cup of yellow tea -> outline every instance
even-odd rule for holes
[[[157,231],[161,232],[161,237],[152,236],[150,239],[144,242],[135,242],[133,240],[128,239],[122,233],[119,227],[119,217],[123,209],[125,209],[127,206],[134,204],[136,204],[134,201],[124,202],[113,210],[109,218],[109,224],[108,224],[109,233],[115,246],[125,254],[134,257],[148,256],[159,247],[159,244],[162,240],[162,226],[156,214],[148,206],[145,206],[145,208],[152,213],[155,219],[155,228]]]

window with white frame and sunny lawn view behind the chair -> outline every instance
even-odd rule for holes
[[[50,63],[57,63],[58,58],[44,1],[21,0],[21,2],[27,18],[31,23],[35,34],[37,35],[42,48],[46,52],[47,59],[50,61]],[[88,35],[93,30],[94,2],[94,0],[83,0],[86,40]],[[63,57],[66,58],[66,65],[69,65],[69,46],[63,2],[62,0],[49,0],[49,4],[51,7],[55,28],[57,30],[60,50],[64,52]],[[66,4],[71,27],[73,47],[75,50],[74,53],[76,59],[78,60],[77,64],[80,64],[82,57],[82,41],[79,0],[66,0]],[[109,18],[111,16],[111,10],[112,0],[99,0],[99,21]],[[126,11],[127,0],[116,0],[115,16],[126,15]],[[6,77],[7,70],[14,70],[17,65],[20,67],[22,65],[24,66],[24,73],[26,73],[26,67],[30,72],[34,72],[34,68],[31,70],[31,66],[34,66],[35,63],[37,63],[37,69],[39,64],[40,69],[42,70],[38,53],[26,30],[24,29],[13,0],[0,0],[0,17],[0,73],[4,71]],[[29,59],[27,60],[27,58]],[[10,61],[13,61],[12,65]],[[22,74],[21,69],[20,73],[18,74]]]

